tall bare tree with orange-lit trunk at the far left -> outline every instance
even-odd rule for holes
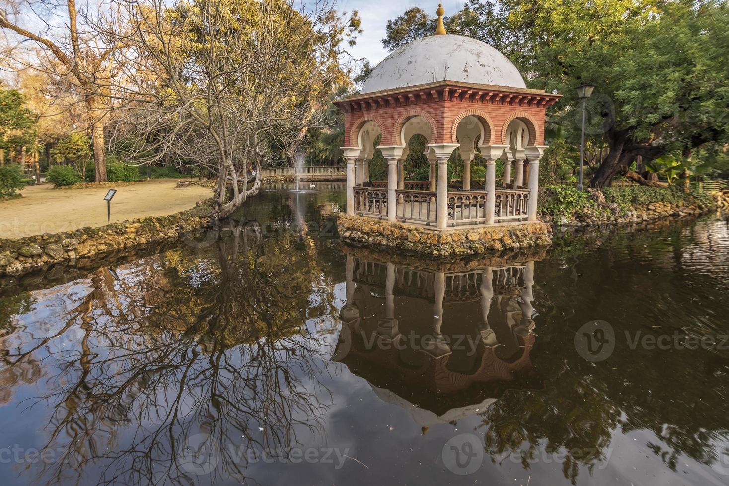
[[[11,33],[8,40],[10,50],[17,52],[13,56],[16,63],[50,74],[58,81],[56,88],[63,86],[60,90],[63,97],[67,97],[69,91],[82,97],[92,132],[95,180],[106,182],[104,121],[111,100],[106,95],[109,78],[114,75],[109,64],[114,45],[101,44],[93,31],[79,30],[76,0],[58,4],[47,0],[2,0],[1,4],[0,27]],[[59,22],[57,17],[61,10],[65,18]],[[31,25],[26,28],[21,25],[23,23]],[[58,28],[60,23],[63,28]],[[42,26],[40,33],[36,32],[36,25]],[[18,42],[14,45],[15,40]],[[17,49],[25,41],[34,42],[38,49],[30,53]]]

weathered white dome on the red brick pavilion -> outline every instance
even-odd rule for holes
[[[424,37],[392,52],[364,81],[362,93],[446,79],[526,88],[516,66],[494,47],[472,37],[447,34]]]

